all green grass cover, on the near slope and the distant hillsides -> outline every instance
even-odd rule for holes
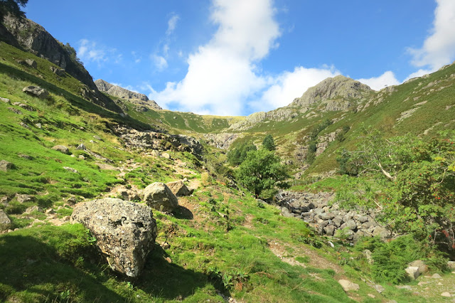
[[[38,67],[17,63],[26,58],[36,60]],[[129,117],[121,117],[85,100],[81,83],[70,75],[58,77],[50,66],[47,60],[0,43],[0,97],[9,99],[0,102],[0,160],[14,164],[0,171],[0,208],[12,221],[0,226],[0,301],[428,302],[428,297],[385,280],[373,281],[361,248],[317,236],[304,221],[285,218],[243,188],[226,185],[210,161],[201,163],[188,151],[175,149],[166,151],[169,159],[129,149],[113,131],[117,125],[159,126],[170,133],[203,136],[231,132],[230,125],[245,117],[137,112],[128,102],[124,105]],[[433,126],[428,133],[434,134],[453,127],[454,73],[451,66],[400,85],[390,95],[378,93],[375,98],[384,97],[382,102],[363,112],[323,112],[314,117],[303,113],[291,121],[263,121],[239,142],[262,142],[267,132],[276,138],[279,153],[292,157],[293,142],[304,144],[304,136],[321,122],[343,117],[319,136],[348,125],[347,139],[329,144],[310,171],[331,169],[333,152],[353,148],[362,123],[385,125],[390,135],[420,134]],[[428,86],[435,80],[441,81]],[[45,88],[50,97],[27,95],[22,88],[28,85]],[[426,95],[432,89],[434,95]],[[424,100],[428,102],[416,105]],[[414,105],[419,110],[411,118],[396,121]],[[431,114],[438,111],[440,115]],[[77,149],[80,144],[86,149]],[[65,145],[70,153],[52,149],[55,145]],[[205,152],[213,154],[204,159],[221,161],[215,151],[206,147]],[[155,181],[183,178],[196,191],[179,198],[176,213],[154,211],[157,243],[144,274],[135,280],[112,272],[88,230],[68,222],[75,202],[118,197],[118,186],[141,189]],[[333,186],[326,182],[325,189]],[[20,201],[21,195],[28,195],[26,201]],[[340,279],[355,282],[360,289],[344,292]],[[383,292],[374,289],[377,283],[385,287]],[[431,298],[440,297],[434,292]]]

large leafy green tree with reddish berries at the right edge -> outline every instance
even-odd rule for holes
[[[342,190],[342,200],[373,201],[382,208],[378,219],[395,231],[455,254],[455,134],[423,141],[413,135],[385,139],[378,131],[365,131],[345,164],[355,166],[363,186],[369,183],[375,191],[366,199],[366,191]]]

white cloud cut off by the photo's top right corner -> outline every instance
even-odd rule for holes
[[[451,63],[455,58],[455,1],[436,0],[431,35],[425,39],[422,48],[409,48],[412,65],[437,70]]]

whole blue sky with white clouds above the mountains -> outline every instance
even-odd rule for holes
[[[249,115],[342,74],[375,90],[455,60],[454,0],[31,0],[94,80],[162,107]]]

